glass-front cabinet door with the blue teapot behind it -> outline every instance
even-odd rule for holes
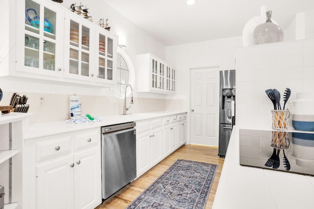
[[[63,12],[57,13],[58,8],[51,2],[45,1],[45,5],[35,0],[24,2],[23,15],[17,15],[18,22],[25,20],[24,32],[17,33],[17,50],[24,46],[24,53],[17,53],[20,64],[16,70],[61,76]]]

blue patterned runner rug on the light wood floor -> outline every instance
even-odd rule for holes
[[[205,209],[217,167],[178,160],[126,209]]]

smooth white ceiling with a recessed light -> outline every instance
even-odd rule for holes
[[[314,0],[104,0],[165,46],[241,36],[245,24],[272,10],[284,30],[298,12],[314,8]]]

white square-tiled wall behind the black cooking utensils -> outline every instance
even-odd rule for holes
[[[313,92],[314,39],[237,48],[235,57],[235,124],[240,128],[271,129],[273,104],[267,89],[281,93],[281,104],[285,89],[291,89],[290,113],[297,92]],[[288,122],[291,127],[291,117]]]

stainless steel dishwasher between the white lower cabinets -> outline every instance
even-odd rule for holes
[[[102,196],[107,199],[136,178],[135,122],[102,127]]]

